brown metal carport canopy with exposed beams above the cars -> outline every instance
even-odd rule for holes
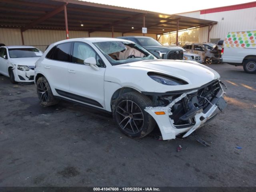
[[[0,27],[163,34],[216,21],[123,8],[80,0],[0,0]],[[66,14],[65,14],[66,12]],[[66,25],[65,25],[66,23]],[[81,26],[83,24],[83,26]],[[67,37],[68,38],[68,37]]]

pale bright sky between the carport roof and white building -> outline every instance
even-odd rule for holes
[[[253,0],[84,0],[166,14],[177,14],[208,8],[253,2]]]

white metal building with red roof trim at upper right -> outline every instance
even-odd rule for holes
[[[256,29],[256,2],[233,6],[211,8],[177,14],[180,16],[217,21],[212,29],[208,26],[199,29],[199,42],[216,42],[226,37],[230,31]]]

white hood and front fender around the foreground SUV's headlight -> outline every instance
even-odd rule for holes
[[[180,78],[188,82],[186,85],[168,86],[152,80],[148,72],[156,72]],[[144,92],[168,92],[199,88],[220,75],[202,64],[185,60],[146,60],[112,66],[106,69],[105,81],[128,86]]]

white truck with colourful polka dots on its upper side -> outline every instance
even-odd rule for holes
[[[229,32],[223,42],[222,59],[243,66],[246,73],[256,73],[256,29]]]

